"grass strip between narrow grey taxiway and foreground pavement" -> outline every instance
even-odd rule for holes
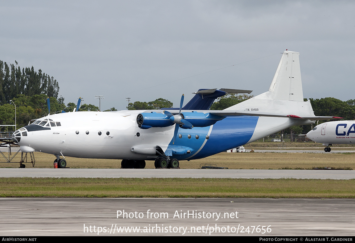
[[[354,198],[355,180],[0,178],[0,197]]]

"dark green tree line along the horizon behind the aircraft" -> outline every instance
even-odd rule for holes
[[[30,120],[48,115],[47,97],[50,98],[50,113],[71,112],[76,108],[75,103],[64,104],[64,97],[58,98],[59,84],[50,75],[41,69],[34,71],[31,68],[20,68],[18,63],[7,64],[0,60],[0,124],[14,125],[16,105],[17,128],[25,126]],[[252,95],[225,95],[219,97],[211,106],[211,110],[223,110],[237,103],[253,97]],[[306,101],[306,99],[305,99]],[[355,120],[355,100],[341,101],[327,97],[320,99],[310,98],[316,116],[337,116],[345,120]],[[173,103],[163,98],[154,101],[129,103],[129,110],[149,110],[171,108]],[[82,104],[79,111],[98,111],[99,107],[92,104]],[[106,111],[117,111],[112,107]],[[323,123],[326,121],[320,121]],[[0,127],[0,131],[10,131],[7,126]],[[311,125],[293,126],[283,131],[289,134],[304,134],[311,130]]]

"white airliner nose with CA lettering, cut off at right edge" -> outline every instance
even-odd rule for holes
[[[315,126],[307,133],[307,137],[327,146],[325,152],[331,152],[332,144],[355,143],[355,121],[326,122]]]

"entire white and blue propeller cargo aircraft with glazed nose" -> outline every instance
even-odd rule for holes
[[[196,95],[203,102],[203,92]],[[208,157],[290,126],[335,118],[316,117],[303,100],[299,53],[287,50],[261,95],[223,111],[210,111],[211,104],[202,103],[184,110],[182,101],[183,96],[179,110],[48,115],[17,130],[12,139],[22,152],[54,154],[60,168],[66,166],[60,156],[122,159],[122,168],[144,168],[145,160],[154,160],[156,168],[177,168],[179,160]]]

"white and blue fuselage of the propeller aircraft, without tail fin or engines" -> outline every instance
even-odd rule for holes
[[[157,158],[155,149],[159,146],[166,156],[190,160],[245,145],[262,138],[265,133],[305,123],[291,118],[226,117],[211,126],[179,128],[173,144],[175,125],[139,128],[136,117],[141,112],[144,111],[48,115],[17,130],[13,139],[24,152],[33,149],[80,158],[154,160]]]

